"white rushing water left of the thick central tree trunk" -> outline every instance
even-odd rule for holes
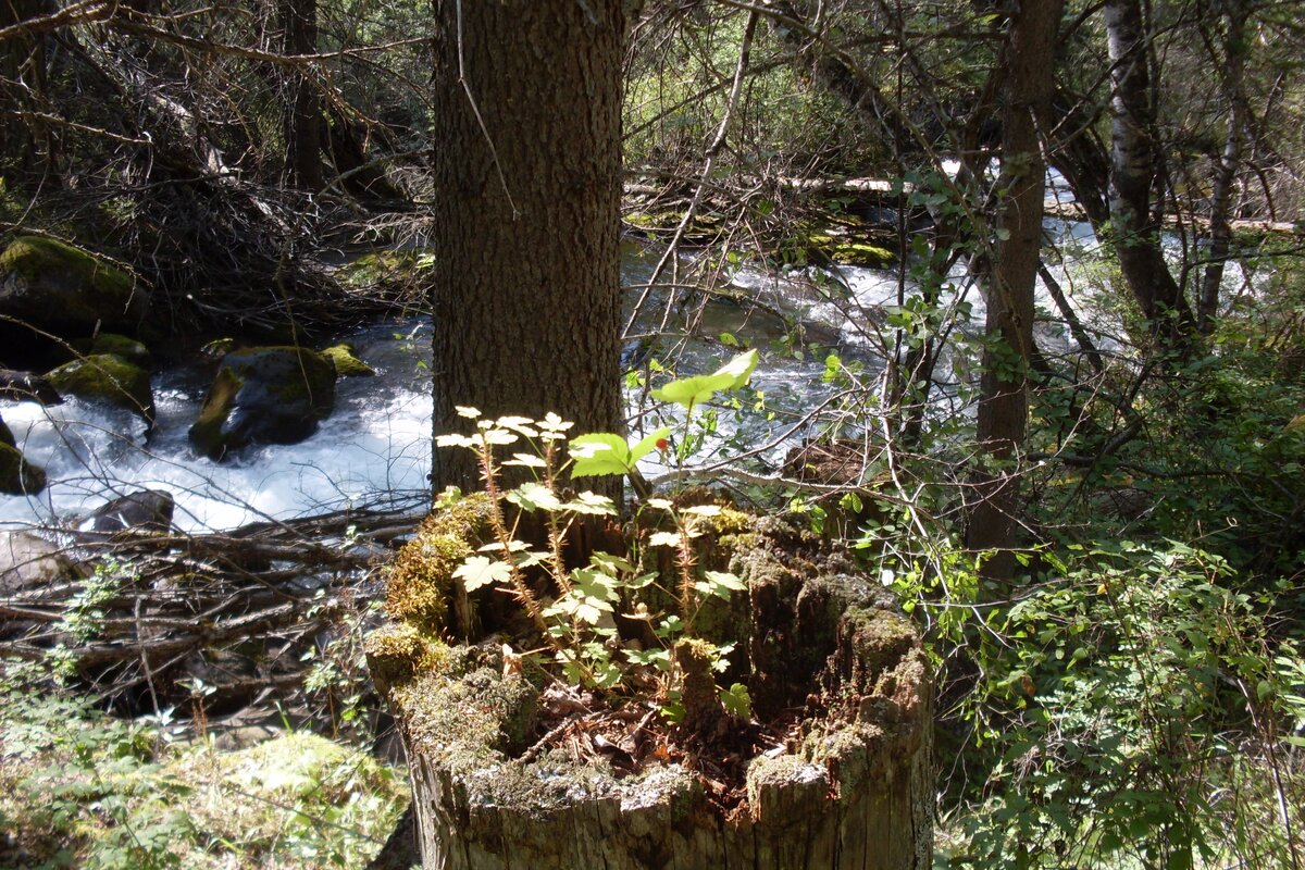
[[[431,470],[429,321],[377,323],[347,339],[377,377],[337,381],[335,411],[308,440],[252,447],[221,463],[196,454],[187,440],[211,368],[154,376],[158,420],[149,441],[138,417],[103,406],[4,402],[0,413],[50,487],[38,496],[0,496],[0,523],[68,522],[138,489],[171,492],[185,531],[377,497],[420,498]]]

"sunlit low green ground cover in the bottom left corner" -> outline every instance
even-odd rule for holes
[[[161,870],[361,866],[402,810],[402,777],[290,734],[236,753],[124,723],[0,663],[0,865]]]

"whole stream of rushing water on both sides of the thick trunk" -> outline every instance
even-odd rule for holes
[[[1047,228],[1058,244],[1071,249],[1095,245],[1084,224],[1048,220]],[[650,262],[649,250],[628,245],[625,282],[633,286],[645,282]],[[1053,270],[1070,292],[1073,271]],[[715,340],[722,333],[758,347],[762,361],[753,386],[765,391],[767,408],[776,417],[766,424],[767,432],[748,433],[753,442],[784,430],[834,393],[835,387],[822,378],[826,353],[859,361],[869,380],[881,369],[880,335],[889,330],[877,325],[882,323],[885,309],[897,304],[895,271],[840,267],[835,273],[776,274],[743,267],[731,275],[731,282],[758,300],[761,308],[711,301],[701,309],[696,323],[696,333],[711,340],[675,346],[662,339],[659,346],[642,350],[632,344],[626,348],[628,361],[673,353],[680,374],[692,374],[711,370],[733,352]],[[975,329],[984,318],[981,295],[974,287],[967,288],[960,274],[957,286],[942,303],[968,303],[968,321],[962,321],[960,329]],[[907,293],[914,290],[906,286]],[[1054,305],[1041,286],[1037,304],[1051,312],[1039,325],[1039,342],[1067,347],[1067,330],[1058,325]],[[666,305],[677,308],[675,300],[651,296],[645,313],[650,321],[647,331],[655,331]],[[125,411],[78,399],[51,408],[3,400],[0,416],[29,462],[46,470],[50,485],[37,496],[0,496],[0,526],[69,524],[104,501],[138,489],[171,492],[176,498],[176,524],[184,531],[228,530],[248,522],[348,506],[420,503],[427,497],[431,467],[431,329],[429,318],[419,317],[372,322],[339,337],[355,344],[377,376],[341,378],[335,411],[308,440],[247,449],[221,463],[194,453],[187,440],[211,377],[211,364],[155,372],[157,429],[147,440],[144,423]],[[793,348],[801,343],[786,343],[786,337],[795,333],[806,342],[800,353]],[[812,347],[817,350],[812,352]],[[967,377],[964,370],[960,377]],[[639,394],[633,387],[628,394],[632,411]],[[947,398],[946,387],[940,395]],[[788,442],[804,434],[810,432],[795,430]]]

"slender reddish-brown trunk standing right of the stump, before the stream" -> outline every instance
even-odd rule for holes
[[[1010,550],[1018,476],[1010,462],[1028,417],[1028,361],[1034,348],[1034,286],[1043,239],[1043,194],[1047,166],[1036,119],[1051,104],[1056,31],[1061,0],[1023,4],[1010,22],[1006,103],[1002,110],[1002,160],[997,184],[1005,193],[998,215],[998,241],[988,282],[989,339],[984,351],[977,440],[994,467],[980,471],[977,498],[966,530],[975,550],[996,550],[985,562],[989,579],[1007,582],[1014,573]]]

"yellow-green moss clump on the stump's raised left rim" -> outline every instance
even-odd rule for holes
[[[492,505],[483,493],[431,514],[389,566],[385,608],[392,620],[441,631],[449,612],[453,571],[480,543]]]

